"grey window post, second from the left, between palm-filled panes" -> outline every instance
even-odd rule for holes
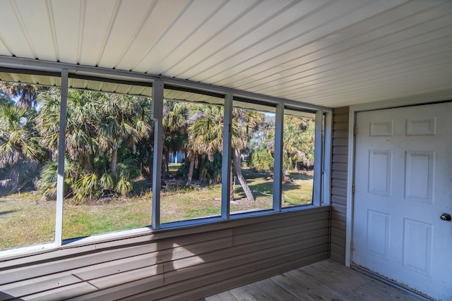
[[[151,119],[154,121],[153,158],[153,211],[152,228],[160,229],[160,190],[162,188],[162,149],[163,149],[163,82],[153,83]]]

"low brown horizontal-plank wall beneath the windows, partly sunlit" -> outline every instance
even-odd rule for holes
[[[328,258],[330,207],[0,260],[0,300],[196,300]]]

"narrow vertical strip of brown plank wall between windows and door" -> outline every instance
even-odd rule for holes
[[[345,223],[347,211],[347,161],[349,108],[333,110],[333,164],[331,170],[330,258],[345,264]]]

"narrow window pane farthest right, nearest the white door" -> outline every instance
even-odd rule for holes
[[[314,118],[285,110],[283,134],[283,207],[312,204]]]

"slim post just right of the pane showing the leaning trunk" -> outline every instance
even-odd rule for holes
[[[273,161],[273,210],[281,211],[283,206],[283,136],[284,104],[276,105],[275,116],[275,161]]]

